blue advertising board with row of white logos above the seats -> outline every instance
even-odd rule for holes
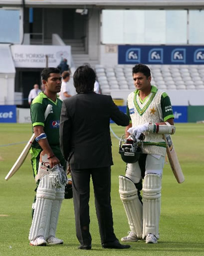
[[[204,64],[204,45],[118,45],[118,64]]]

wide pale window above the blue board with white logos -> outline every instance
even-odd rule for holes
[[[102,11],[102,42],[186,44],[187,19],[187,10],[105,9]]]

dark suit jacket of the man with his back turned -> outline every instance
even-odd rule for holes
[[[71,169],[113,164],[110,118],[127,126],[129,118],[109,95],[79,93],[63,100],[60,118],[60,148]]]

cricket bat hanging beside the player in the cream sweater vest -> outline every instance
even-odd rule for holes
[[[179,159],[177,157],[176,150],[174,148],[174,144],[171,138],[171,135],[165,134],[164,139],[167,144],[167,155],[169,158],[169,162],[174,173],[175,178],[177,179],[178,183],[182,183],[185,180],[182,168],[179,163]]]

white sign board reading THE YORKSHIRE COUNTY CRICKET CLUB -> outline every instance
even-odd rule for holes
[[[71,46],[69,45],[11,45],[15,67],[57,67],[63,58],[71,64]]]

